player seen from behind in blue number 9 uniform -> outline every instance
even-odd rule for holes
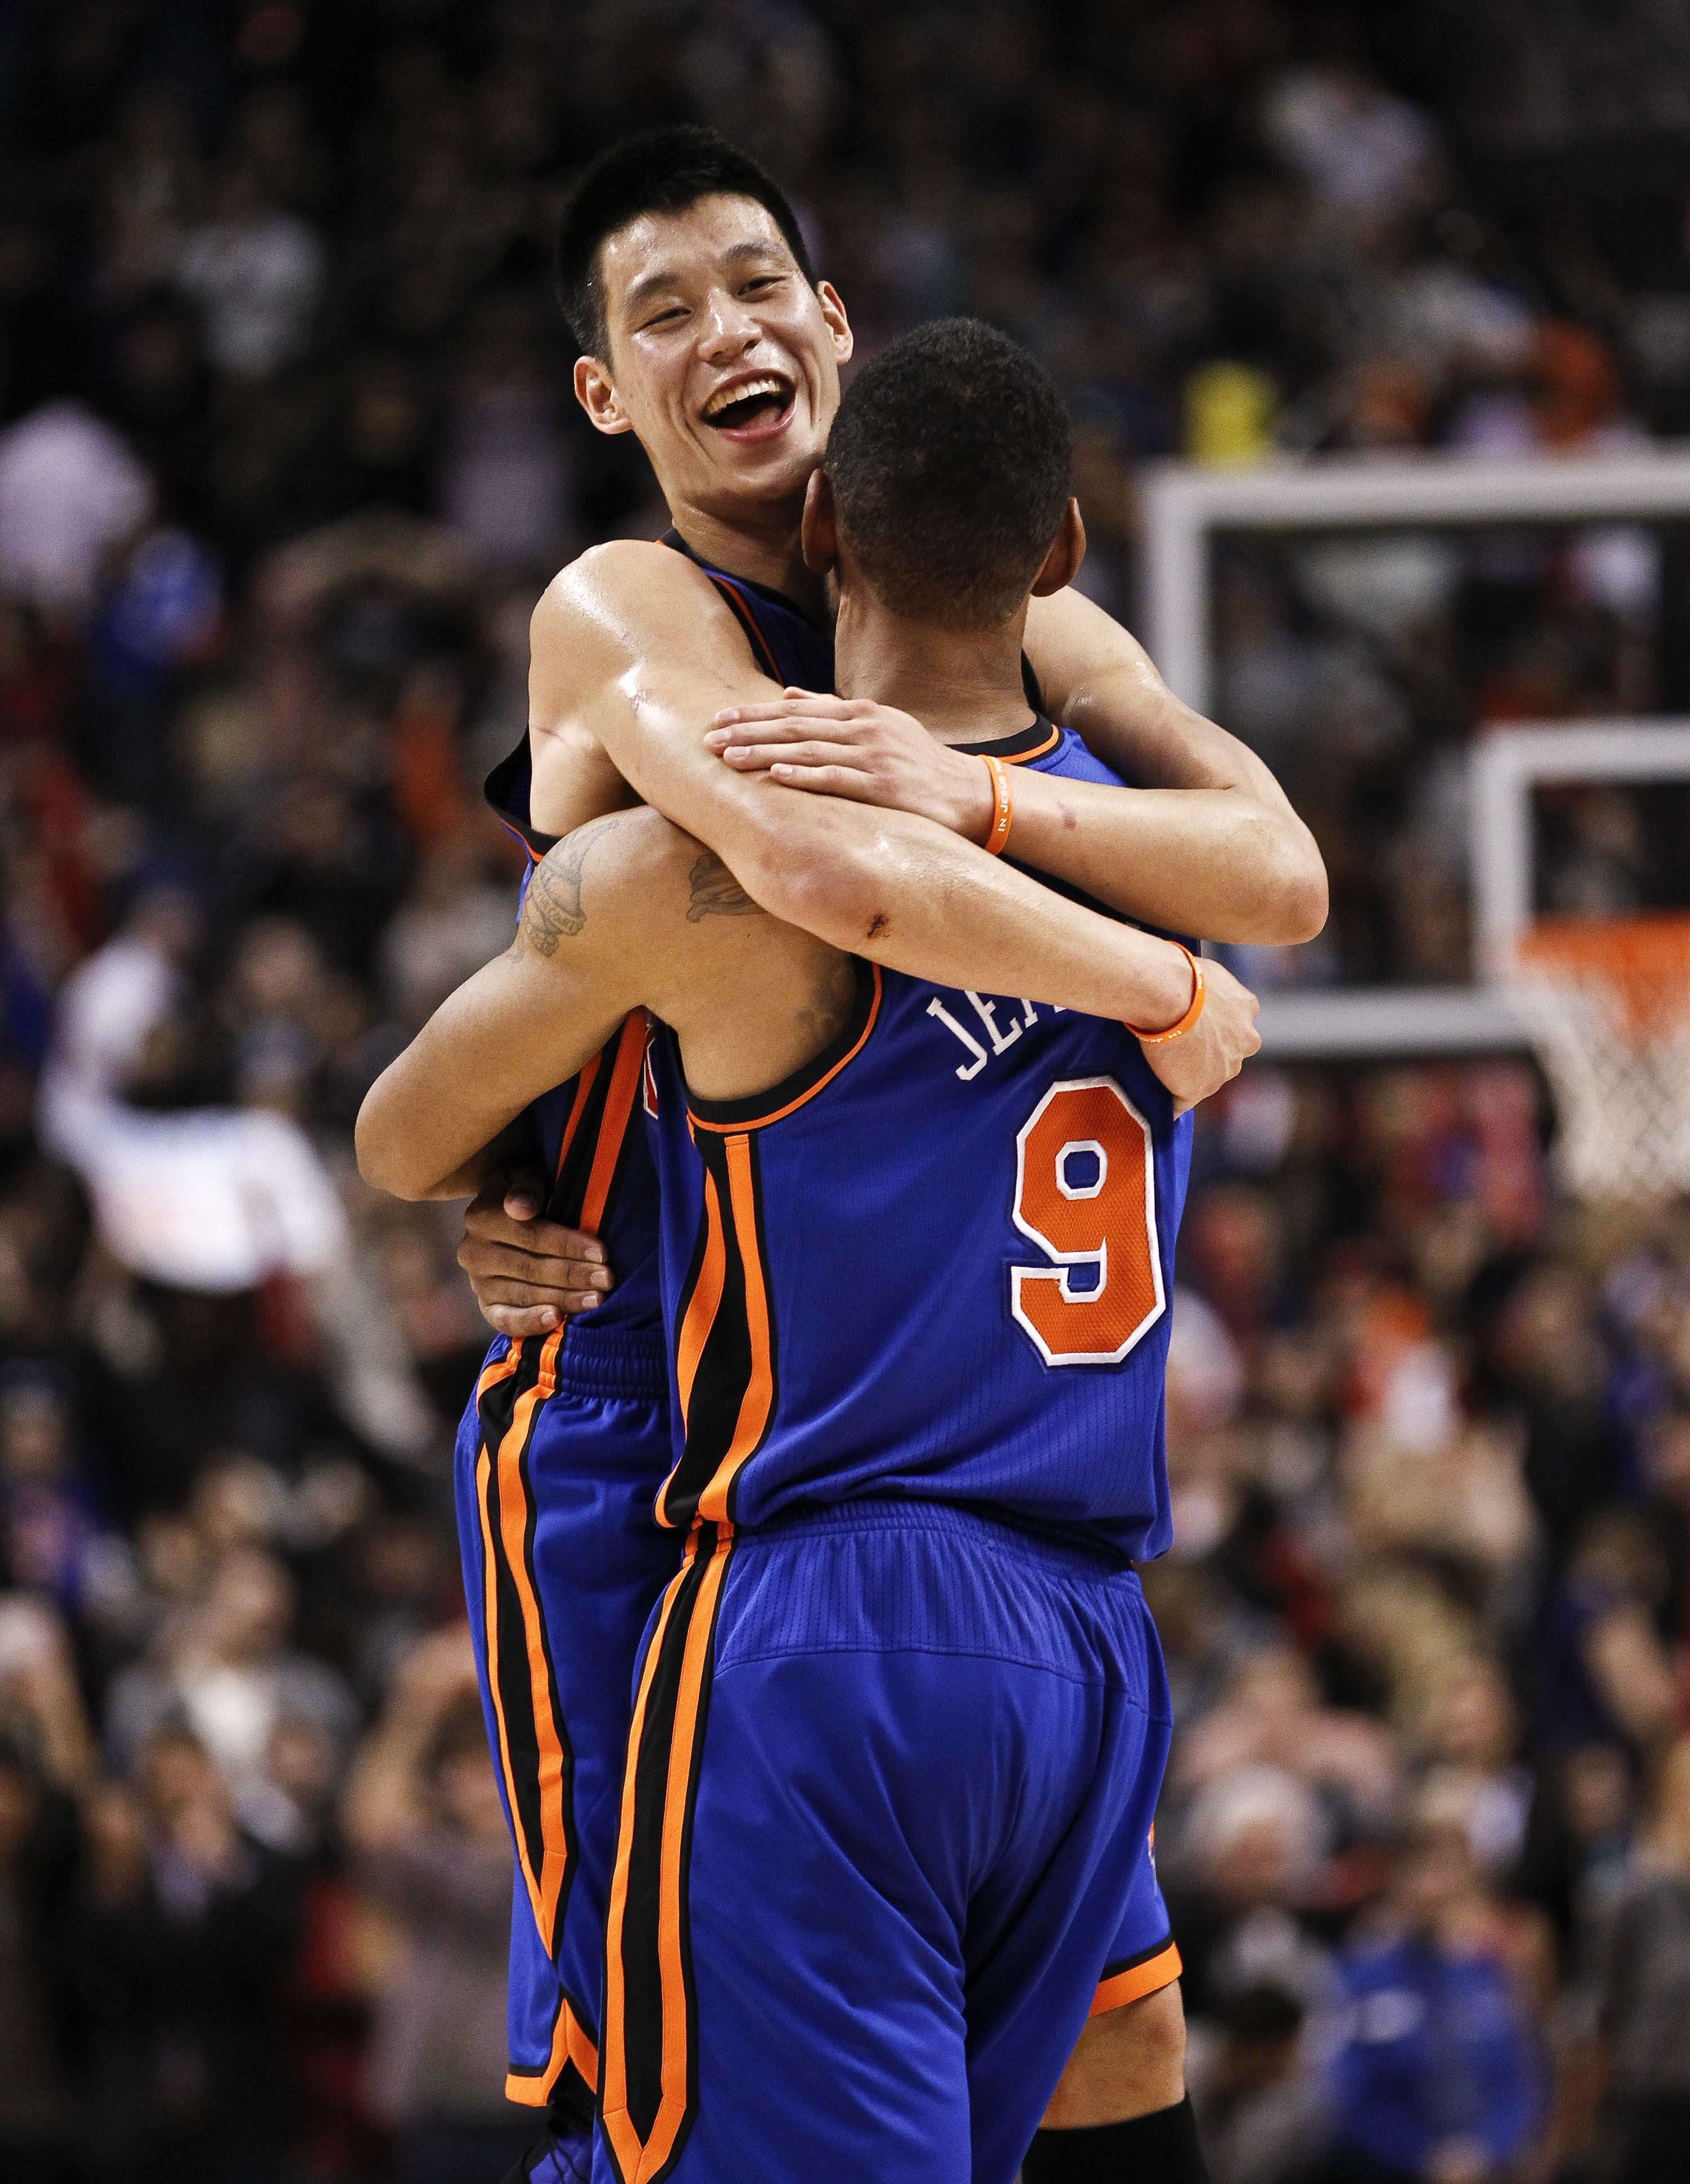
[[[1035,769],[1103,778],[1020,697],[1068,507],[1055,389],[967,323],[869,367],[808,500],[841,686],[967,690],[998,828]],[[1186,1000],[1166,1033],[935,992],[749,904],[699,917],[729,885],[655,812],[561,843],[511,957],[371,1092],[360,1158],[461,1186],[622,1011],[673,1026],[644,1083],[683,1417],[659,1507],[692,1535],[635,1706],[605,2175],[1007,2180],[1122,1944],[1149,1918],[1168,1946],[1166,1688],[1129,1557],[1168,1535],[1188,1125],[1138,1040],[1188,1037],[1203,987],[1096,919],[1116,998]],[[1066,2175],[1201,2175],[1183,2108],[1046,2136]]]

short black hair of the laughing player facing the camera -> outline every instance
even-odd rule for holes
[[[557,301],[581,349],[609,356],[600,247],[646,212],[686,212],[701,197],[751,197],[786,236],[799,273],[817,275],[786,194],[738,144],[714,129],[644,129],[600,151],[570,190],[557,229]]]

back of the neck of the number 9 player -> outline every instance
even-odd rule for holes
[[[849,585],[834,629],[841,697],[897,705],[941,743],[991,743],[1026,727],[1022,631],[1026,609],[996,629],[930,629],[906,622]]]

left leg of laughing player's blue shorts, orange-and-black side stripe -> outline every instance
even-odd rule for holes
[[[662,1334],[570,1321],[493,1343],[454,1492],[480,1701],[515,1841],[507,2099],[598,2086],[605,1904],[640,1636],[683,1542]]]

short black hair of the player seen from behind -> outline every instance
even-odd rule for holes
[[[989,629],[1050,553],[1074,430],[1026,349],[978,319],[935,319],[852,380],[825,470],[841,537],[886,607]]]

